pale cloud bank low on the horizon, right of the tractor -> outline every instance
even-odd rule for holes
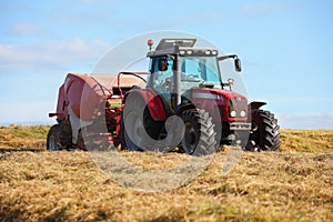
[[[333,112],[276,114],[282,129],[333,129]]]

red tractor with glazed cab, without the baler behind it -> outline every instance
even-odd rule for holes
[[[216,49],[195,48],[195,41],[162,39],[155,50],[151,50],[153,41],[148,41],[147,87],[132,89],[124,98],[122,120],[128,124],[124,124],[123,147],[168,150],[176,145],[189,154],[214,151],[218,144],[240,145],[251,151],[278,150],[278,120],[260,109],[265,103],[249,104],[244,95],[231,90],[232,79],[222,81],[219,62],[233,59],[240,72],[238,56],[219,57]],[[179,121],[167,121],[174,115]],[[175,128],[173,135],[159,143],[172,134],[168,127]]]

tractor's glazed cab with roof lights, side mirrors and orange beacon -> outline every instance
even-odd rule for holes
[[[192,98],[193,89],[228,90],[233,83],[222,82],[219,61],[234,59],[236,71],[241,71],[238,56],[218,57],[211,48],[194,48],[195,39],[162,39],[154,51],[148,41],[150,58],[148,88],[153,89],[176,109]],[[216,92],[216,90],[215,90]]]

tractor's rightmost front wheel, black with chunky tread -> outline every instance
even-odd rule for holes
[[[278,151],[280,132],[274,114],[266,110],[252,111],[252,127],[246,144],[249,151]]]

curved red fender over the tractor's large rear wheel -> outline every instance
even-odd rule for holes
[[[125,103],[127,97],[130,93],[135,93],[139,98],[143,99],[153,120],[167,119],[163,102],[159,94],[155,93],[152,89],[132,89],[125,94],[123,103]]]

